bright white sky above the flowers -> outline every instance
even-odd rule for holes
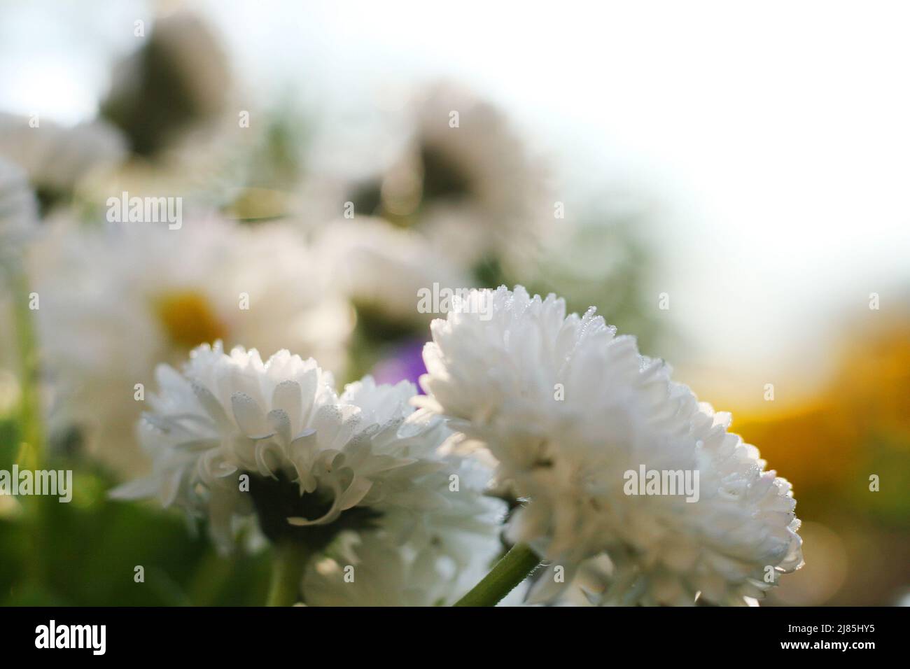
[[[669,292],[689,360],[677,368],[705,397],[809,384],[824,345],[868,317],[870,292],[883,313],[906,304],[910,4],[197,5],[251,95],[293,81],[343,115],[380,89],[453,76],[568,174],[659,197],[655,308]],[[154,6],[2,5],[0,107],[90,116],[109,59]]]

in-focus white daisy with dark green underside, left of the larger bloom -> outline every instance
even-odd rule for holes
[[[452,490],[460,461],[438,454],[446,431],[413,412],[408,382],[366,377],[339,396],[315,360],[280,350],[264,363],[256,350],[226,355],[220,342],[194,350],[182,372],[159,366],[157,380],[141,426],[153,472],[115,496],[157,496],[205,516],[222,547],[254,512],[272,541],[317,552],[346,530],[413,542],[426,560],[436,550],[462,557],[445,532],[495,537],[499,504]]]

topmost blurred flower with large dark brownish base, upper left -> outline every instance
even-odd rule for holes
[[[261,204],[261,193],[254,198],[244,190],[251,174],[266,170],[252,159],[270,131],[264,115],[248,105],[228,113],[236,92],[216,32],[185,10],[157,18],[149,29],[142,46],[117,67],[101,105],[101,116],[122,129],[134,155],[116,172],[89,180],[85,199],[167,193],[227,213],[243,198],[254,200],[255,207],[244,207],[256,209],[248,218],[278,218],[276,207]]]

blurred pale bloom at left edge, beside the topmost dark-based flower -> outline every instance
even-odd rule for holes
[[[38,118],[0,114],[0,157],[25,170],[33,187],[48,196],[72,190],[95,170],[115,167],[126,157],[119,131],[104,121],[59,126]]]

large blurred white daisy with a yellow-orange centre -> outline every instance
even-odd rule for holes
[[[291,345],[335,370],[345,362],[350,308],[280,225],[61,223],[33,251],[39,335],[64,394],[56,421],[79,424],[88,450],[125,475],[147,468],[136,384],[148,388],[158,362],[215,340]]]

